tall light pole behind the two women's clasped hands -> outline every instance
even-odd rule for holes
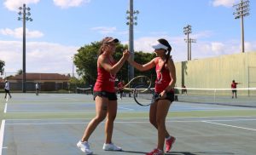
[[[133,47],[133,25],[137,26],[137,14],[139,14],[139,11],[133,10],[133,0],[130,0],[130,9],[126,11],[126,14],[128,16],[126,19],[128,20],[126,22],[126,25],[129,26],[129,47],[128,50],[131,53],[131,59],[134,60],[134,47]],[[134,21],[136,20],[136,21]],[[134,78],[134,68],[130,64],[128,65],[128,78],[131,80],[131,78]]]

